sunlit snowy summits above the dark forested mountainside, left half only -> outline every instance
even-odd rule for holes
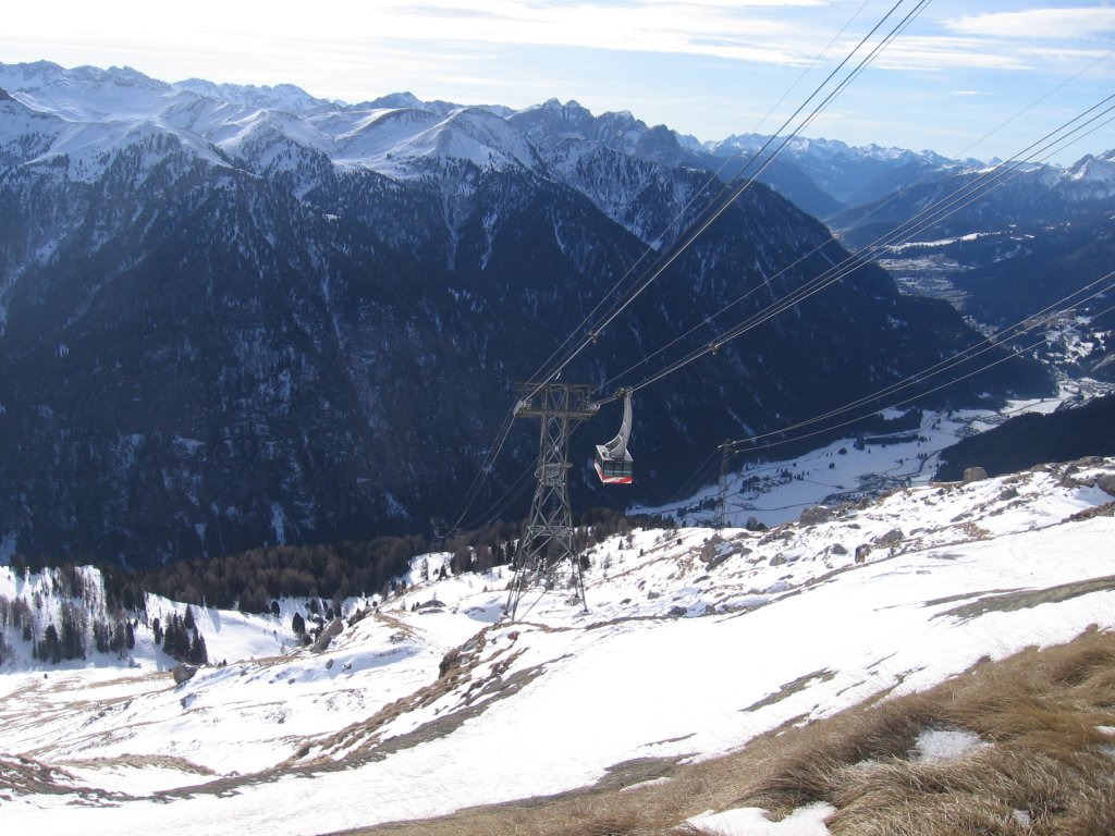
[[[7,110],[19,111],[3,114],[0,142],[13,143],[32,133],[33,119],[52,117],[65,127],[56,128],[60,136],[31,162],[68,157],[86,179],[137,142],[137,130],[172,136],[197,157],[215,165],[231,158],[255,173],[272,173],[277,159],[304,152],[323,154],[340,167],[401,178],[429,163],[496,169],[537,164],[526,136],[485,108],[348,106],[291,85],[200,79],[171,85],[129,68],[64,69],[47,62],[0,65],[0,89],[11,96]]]

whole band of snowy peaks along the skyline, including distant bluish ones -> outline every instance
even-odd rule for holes
[[[135,123],[155,134],[173,135],[200,153],[210,147],[253,168],[291,165],[292,157],[279,163],[253,153],[285,137],[294,146],[320,152],[334,165],[396,177],[426,171],[432,153],[485,166],[537,168],[542,161],[524,138],[542,146],[590,142],[671,167],[721,169],[724,177],[735,176],[747,161],[765,157],[782,145],[759,134],[701,143],[666,126],[648,126],[629,111],[594,116],[572,100],[550,99],[516,111],[498,105],[423,101],[401,93],[349,105],[316,98],[293,85],[219,85],[203,79],[169,84],[127,67],[66,69],[49,61],[0,64],[0,89],[9,101],[26,106],[26,110],[16,104],[8,107],[25,117],[25,126],[35,126],[32,133],[40,134],[39,143],[29,145],[18,124],[6,125],[0,143],[14,146],[7,150],[11,158],[45,163],[72,155],[85,164],[87,176],[96,176],[97,159],[107,162],[104,143],[113,136],[123,139],[136,129]],[[99,154],[95,153],[98,147]],[[83,159],[83,152],[93,158]],[[1085,155],[1068,168],[1029,167],[1047,186],[1070,189],[1072,200],[1109,198],[1111,156],[1112,152]],[[780,149],[774,171],[760,179],[791,200],[799,197],[812,214],[825,216],[836,206],[872,203],[919,182],[979,172],[985,166],[977,159],[950,159],[932,150],[855,147],[797,137]],[[826,200],[820,193],[834,202],[827,212],[811,205]]]

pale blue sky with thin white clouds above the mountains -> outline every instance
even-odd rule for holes
[[[778,130],[895,4],[870,45],[918,0],[55,0],[4,10],[0,61],[289,82],[350,103],[574,99],[718,140]],[[1115,1],[930,0],[802,133],[1007,158],[1113,93]],[[1090,127],[1041,158],[1115,148],[1115,124]]]

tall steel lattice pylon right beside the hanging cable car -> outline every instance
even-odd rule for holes
[[[569,504],[569,438],[578,421],[592,418],[600,405],[591,400],[592,387],[575,383],[529,383],[515,406],[516,418],[537,418],[542,428],[537,486],[526,533],[515,555],[515,580],[506,614],[514,621],[518,602],[530,589],[562,589],[585,606],[581,560],[573,543],[573,514]]]

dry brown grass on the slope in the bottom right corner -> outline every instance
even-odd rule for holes
[[[1111,836],[1115,634],[1089,631],[1048,650],[985,662],[924,693],[787,725],[744,750],[691,765],[642,765],[630,786],[602,781],[561,796],[463,810],[358,833],[398,836],[681,836],[705,810],[756,806],[772,816],[826,801],[835,836]],[[954,759],[911,758],[927,728],[987,745]],[[614,777],[614,776],[613,776]]]

